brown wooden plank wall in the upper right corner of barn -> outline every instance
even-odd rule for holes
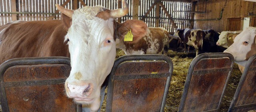
[[[204,0],[205,1],[205,0]],[[243,28],[243,18],[249,16],[249,12],[255,15],[256,11],[256,2],[248,2],[242,0],[208,0],[206,6],[206,13],[194,14],[194,28],[200,28],[202,30],[213,29],[218,32],[225,31],[229,29],[230,18],[241,18],[240,26],[237,25],[238,29],[242,30]],[[195,4],[195,11],[205,10],[205,4],[200,2],[200,4]],[[200,19],[212,19],[220,18],[220,12],[224,7],[222,18],[220,20],[203,20]],[[233,27],[233,26],[232,26]]]

